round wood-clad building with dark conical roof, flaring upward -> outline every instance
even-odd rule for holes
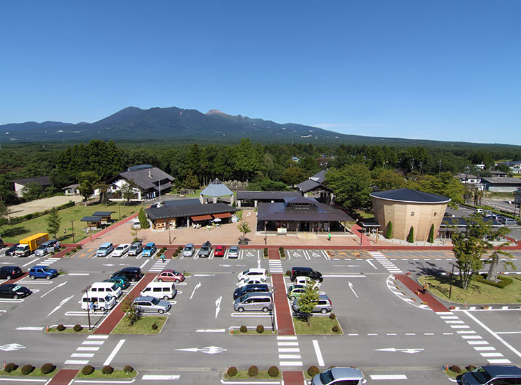
[[[434,234],[438,230],[447,209],[450,198],[412,189],[394,189],[377,191],[370,194],[374,218],[383,234],[391,225],[391,237],[407,239],[413,228],[415,241],[427,241],[434,225]]]

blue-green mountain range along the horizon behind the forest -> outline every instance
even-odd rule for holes
[[[148,110],[127,107],[94,123],[74,124],[59,121],[36,123],[30,121],[0,125],[0,140],[3,144],[88,142],[91,139],[112,139],[115,142],[166,141],[229,144],[239,142],[243,137],[248,137],[252,142],[262,143],[456,145],[455,142],[345,135],[297,123],[281,124],[241,115],[233,116],[219,110],[210,110],[203,114],[197,110],[176,107],[156,107]]]

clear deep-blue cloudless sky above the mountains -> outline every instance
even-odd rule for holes
[[[521,144],[521,1],[0,4],[0,124],[210,109]]]

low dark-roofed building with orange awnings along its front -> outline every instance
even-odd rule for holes
[[[166,200],[160,205],[152,205],[144,212],[152,223],[152,228],[190,227],[194,223],[208,225],[219,219],[222,223],[231,221],[239,209],[225,203],[202,204],[199,199]]]

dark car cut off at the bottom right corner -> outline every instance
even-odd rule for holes
[[[513,365],[480,366],[461,377],[463,385],[521,384],[521,369]]]

